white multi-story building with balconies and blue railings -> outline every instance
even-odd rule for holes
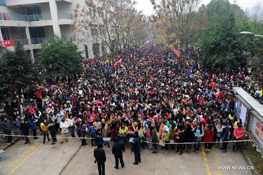
[[[76,42],[70,24],[77,3],[84,4],[84,0],[0,0],[0,40],[19,39],[32,56],[41,43],[49,42],[50,32]],[[90,45],[78,43],[78,50],[86,58],[94,55]],[[101,48],[99,52],[102,55]]]

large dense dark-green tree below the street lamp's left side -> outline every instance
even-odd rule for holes
[[[226,65],[235,65],[245,60],[245,44],[237,31],[233,14],[225,19],[214,14],[197,42],[202,51],[201,61],[221,66],[223,70]]]

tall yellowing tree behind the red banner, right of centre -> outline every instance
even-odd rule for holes
[[[184,50],[199,34],[196,30],[206,25],[205,13],[196,12],[201,0],[151,0],[156,9],[153,15],[154,28],[157,30],[159,42]],[[198,14],[200,13],[200,14]],[[200,22],[200,19],[203,22]],[[203,29],[202,29],[203,30]],[[181,54],[184,57],[184,53]],[[185,59],[185,57],[184,57]],[[185,70],[184,60],[184,70]],[[186,71],[186,70],[185,70]]]

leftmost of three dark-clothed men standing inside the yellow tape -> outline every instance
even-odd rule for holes
[[[96,159],[95,163],[98,164],[99,175],[105,175],[106,154],[100,142],[97,143],[97,148],[94,149],[94,157]]]

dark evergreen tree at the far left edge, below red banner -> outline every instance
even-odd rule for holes
[[[0,66],[1,94],[7,94],[11,90],[14,96],[17,90],[21,104],[21,91],[34,85],[33,80],[38,74],[30,52],[26,52],[23,44],[18,40],[15,40],[14,51],[1,46]]]

